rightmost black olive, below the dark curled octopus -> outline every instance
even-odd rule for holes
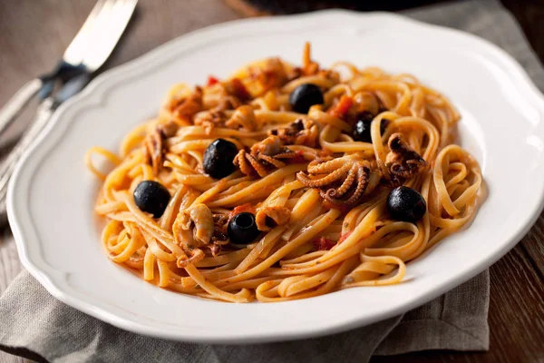
[[[387,210],[397,221],[416,222],[425,215],[427,203],[419,192],[401,186],[389,192]]]

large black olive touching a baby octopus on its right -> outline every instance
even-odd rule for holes
[[[204,152],[204,172],[210,177],[221,179],[234,172],[232,161],[238,153],[236,145],[224,139],[211,142]]]

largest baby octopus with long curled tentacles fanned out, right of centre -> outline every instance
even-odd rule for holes
[[[307,175],[298,172],[296,179],[310,188],[318,188],[325,201],[352,205],[359,201],[369,185],[370,163],[354,156],[327,157],[308,164]]]

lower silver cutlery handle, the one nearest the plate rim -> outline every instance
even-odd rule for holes
[[[53,98],[49,97],[40,103],[34,122],[24,132],[23,136],[15,144],[12,152],[5,158],[5,161],[0,166],[0,227],[5,221],[5,197],[7,195],[7,186],[12,174],[15,171],[15,165],[21,159],[24,152],[44,130],[44,126],[48,123],[55,109]]]

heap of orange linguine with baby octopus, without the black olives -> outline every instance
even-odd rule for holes
[[[290,94],[316,84],[323,103],[296,113]],[[369,142],[354,140],[370,115]],[[477,211],[481,171],[452,143],[460,115],[410,74],[338,62],[321,68],[306,44],[301,67],[270,58],[202,87],[177,84],[158,117],[131,131],[118,154],[86,156],[102,189],[108,257],[161,288],[232,302],[284,301],[338,289],[400,283],[406,262],[459,231]],[[217,139],[238,149],[234,172],[214,179],[204,153]],[[111,162],[102,173],[98,154]],[[170,201],[159,218],[133,192],[160,182]],[[400,185],[426,201],[419,221],[387,208]],[[242,211],[259,235],[228,239]]]

